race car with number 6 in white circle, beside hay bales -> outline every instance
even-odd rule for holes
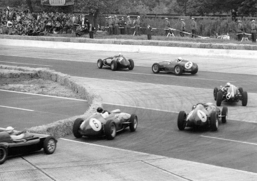
[[[83,120],[78,118],[73,125],[73,134],[76,138],[82,136],[106,136],[107,139],[114,139],[116,133],[129,127],[131,132],[137,129],[137,116],[135,114],[121,113],[120,110],[111,112],[103,111],[101,107],[97,112]]]

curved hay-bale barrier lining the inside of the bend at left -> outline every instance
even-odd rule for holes
[[[49,134],[57,138],[72,134],[72,126],[75,119],[86,118],[90,114],[94,113],[97,107],[102,106],[102,98],[94,92],[90,91],[88,87],[79,85],[68,75],[58,73],[48,68],[0,65],[0,78],[19,78],[21,80],[41,78],[58,82],[60,85],[64,85],[72,89],[72,91],[77,93],[82,99],[87,100],[90,104],[88,110],[83,115],[59,120],[46,125],[35,126],[27,130],[31,133]]]

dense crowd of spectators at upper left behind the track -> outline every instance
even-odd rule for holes
[[[89,33],[89,21],[83,14],[29,12],[29,9],[0,10],[0,33],[15,35],[44,35],[45,33]],[[80,27],[79,25],[82,25]]]

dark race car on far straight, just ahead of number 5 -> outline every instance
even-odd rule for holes
[[[119,55],[115,55],[114,57],[109,57],[106,59],[98,59],[97,66],[98,68],[102,68],[104,66],[110,67],[113,71],[117,69],[125,69],[133,70],[134,61],[132,59],[127,59],[121,53]]]

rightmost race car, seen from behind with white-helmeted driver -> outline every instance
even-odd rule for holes
[[[213,97],[216,101],[216,105],[220,106],[223,101],[226,102],[238,102],[242,101],[242,105],[246,106],[248,101],[248,95],[246,91],[243,91],[242,87],[236,87],[229,82],[223,87],[218,89],[217,87],[213,90]]]

